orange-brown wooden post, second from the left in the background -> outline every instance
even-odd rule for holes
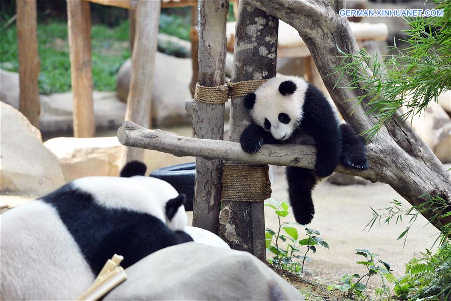
[[[91,12],[89,2],[67,0],[69,51],[71,54],[74,137],[94,137],[92,103]]]

